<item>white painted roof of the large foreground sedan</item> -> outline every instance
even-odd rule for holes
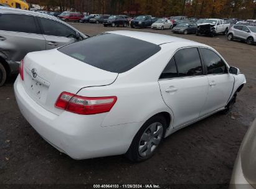
[[[127,37],[133,37],[135,39],[145,40],[146,42],[150,42],[152,44],[161,45],[166,43],[172,42],[186,42],[191,44],[199,44],[192,40],[182,39],[180,37],[173,37],[170,35],[163,35],[163,34],[156,34],[156,33],[149,33],[149,32],[135,32],[135,31],[128,31],[128,30],[118,30],[118,31],[111,31],[107,32],[111,34],[118,34],[118,35],[125,35]]]

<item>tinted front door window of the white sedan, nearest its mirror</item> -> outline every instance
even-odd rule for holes
[[[227,73],[227,67],[224,61],[212,50],[201,48],[204,64],[206,65],[207,74]]]

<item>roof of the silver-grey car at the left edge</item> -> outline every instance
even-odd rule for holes
[[[0,7],[0,14],[1,13],[27,14],[27,15],[31,15],[31,16],[40,16],[40,17],[45,17],[45,18],[49,18],[49,19],[59,20],[54,16],[50,16],[49,14],[43,14],[43,13],[34,12],[34,11],[26,11],[26,10],[21,10],[21,9],[14,9],[11,7]]]

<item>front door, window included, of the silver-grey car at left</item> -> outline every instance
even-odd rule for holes
[[[47,50],[75,42],[76,32],[69,26],[51,19],[42,17],[38,17],[38,19]]]

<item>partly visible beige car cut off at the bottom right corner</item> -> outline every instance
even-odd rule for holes
[[[256,188],[256,119],[249,127],[241,144],[232,178],[230,189]]]

